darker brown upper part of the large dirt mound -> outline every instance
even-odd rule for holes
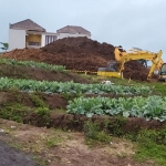
[[[114,46],[112,44],[101,44],[87,38],[64,38],[45,45],[42,50],[49,53],[68,53],[76,58],[93,54],[107,60],[114,60]]]

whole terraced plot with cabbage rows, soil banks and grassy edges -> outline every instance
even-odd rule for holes
[[[73,74],[61,65],[10,59],[0,64],[1,118],[83,132],[91,145],[127,138],[137,145],[136,160],[166,163],[165,84],[117,79],[102,84],[105,77]],[[155,148],[157,157],[148,154]]]

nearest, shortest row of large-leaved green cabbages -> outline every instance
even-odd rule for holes
[[[79,97],[69,102],[68,113],[82,114],[92,117],[97,115],[122,115],[124,117],[146,117],[160,122],[166,121],[166,97]]]

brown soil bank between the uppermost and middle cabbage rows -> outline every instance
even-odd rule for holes
[[[14,77],[14,79],[30,79],[38,81],[58,81],[58,82],[69,82],[73,81],[76,83],[91,83],[89,79],[85,79],[76,73],[71,72],[55,72],[41,70],[38,68],[28,68],[19,65],[0,65],[0,76]]]

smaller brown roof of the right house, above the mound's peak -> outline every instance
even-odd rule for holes
[[[62,29],[56,30],[58,33],[80,33],[80,34],[87,34],[91,35],[91,32],[83,29],[82,27],[76,27],[76,25],[66,25]]]

